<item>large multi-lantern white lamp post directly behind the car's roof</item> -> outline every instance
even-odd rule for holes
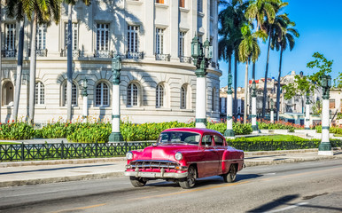
[[[192,38],[191,57],[196,66],[196,128],[206,128],[206,68],[209,60],[213,58],[213,47],[208,39],[202,45],[198,36]]]

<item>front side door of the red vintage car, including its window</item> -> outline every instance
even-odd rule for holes
[[[202,137],[201,146],[204,146],[204,159],[203,163],[205,164],[204,176],[214,176],[217,175],[219,162],[219,154],[214,147],[214,138],[211,134],[205,134]]]

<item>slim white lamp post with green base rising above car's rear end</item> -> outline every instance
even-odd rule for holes
[[[233,81],[233,76],[228,75],[228,91],[227,91],[227,130],[224,131],[224,136],[229,138],[234,138],[235,133],[233,130],[233,99],[231,91],[231,85]]]

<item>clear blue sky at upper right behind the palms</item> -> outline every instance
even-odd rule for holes
[[[284,12],[289,14],[299,30],[299,38],[292,51],[283,53],[282,76],[292,70],[299,74],[310,75],[317,70],[307,68],[307,62],[313,60],[312,55],[318,51],[326,59],[333,60],[332,79],[342,72],[342,1],[328,2],[318,0],[288,0],[289,5]],[[256,63],[256,79],[265,75],[267,43],[260,41],[261,55]],[[278,76],[279,51],[271,51],[269,55],[268,77]],[[234,66],[232,66],[234,67]],[[252,66],[249,66],[249,79],[252,77]],[[228,63],[220,61],[222,77],[220,87],[227,85]],[[245,64],[238,66],[237,86],[245,86]],[[234,74],[234,68],[232,70]]]

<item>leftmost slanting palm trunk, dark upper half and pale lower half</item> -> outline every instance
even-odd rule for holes
[[[14,106],[12,119],[17,122],[19,99],[20,99],[20,87],[21,87],[21,73],[22,73],[22,59],[24,54],[24,25],[25,21],[20,20],[19,28],[19,45],[18,45],[18,64],[17,64],[17,79],[15,82],[15,93],[14,93]]]

